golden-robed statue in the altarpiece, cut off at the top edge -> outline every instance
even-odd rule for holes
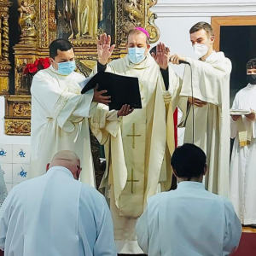
[[[96,38],[102,21],[102,0],[63,0],[64,15],[70,22],[69,39]]]

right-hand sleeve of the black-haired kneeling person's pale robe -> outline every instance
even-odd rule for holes
[[[241,222],[236,216],[234,207],[230,201],[224,201],[225,227],[224,227],[224,255],[236,252],[241,239]]]

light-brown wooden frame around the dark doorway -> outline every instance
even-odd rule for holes
[[[215,34],[213,48],[219,51],[221,26],[256,26],[256,16],[212,17],[212,28]]]

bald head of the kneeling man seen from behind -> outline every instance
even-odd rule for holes
[[[54,155],[53,159],[47,165],[47,171],[49,168],[54,166],[66,167],[70,172],[72,172],[75,179],[79,179],[80,172],[80,160],[79,156],[70,150],[63,150]]]

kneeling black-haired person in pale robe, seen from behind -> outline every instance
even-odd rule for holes
[[[202,180],[207,156],[193,144],[172,155],[177,189],[154,195],[137,221],[137,240],[148,256],[224,256],[241,239],[241,222],[231,202],[208,192]]]

